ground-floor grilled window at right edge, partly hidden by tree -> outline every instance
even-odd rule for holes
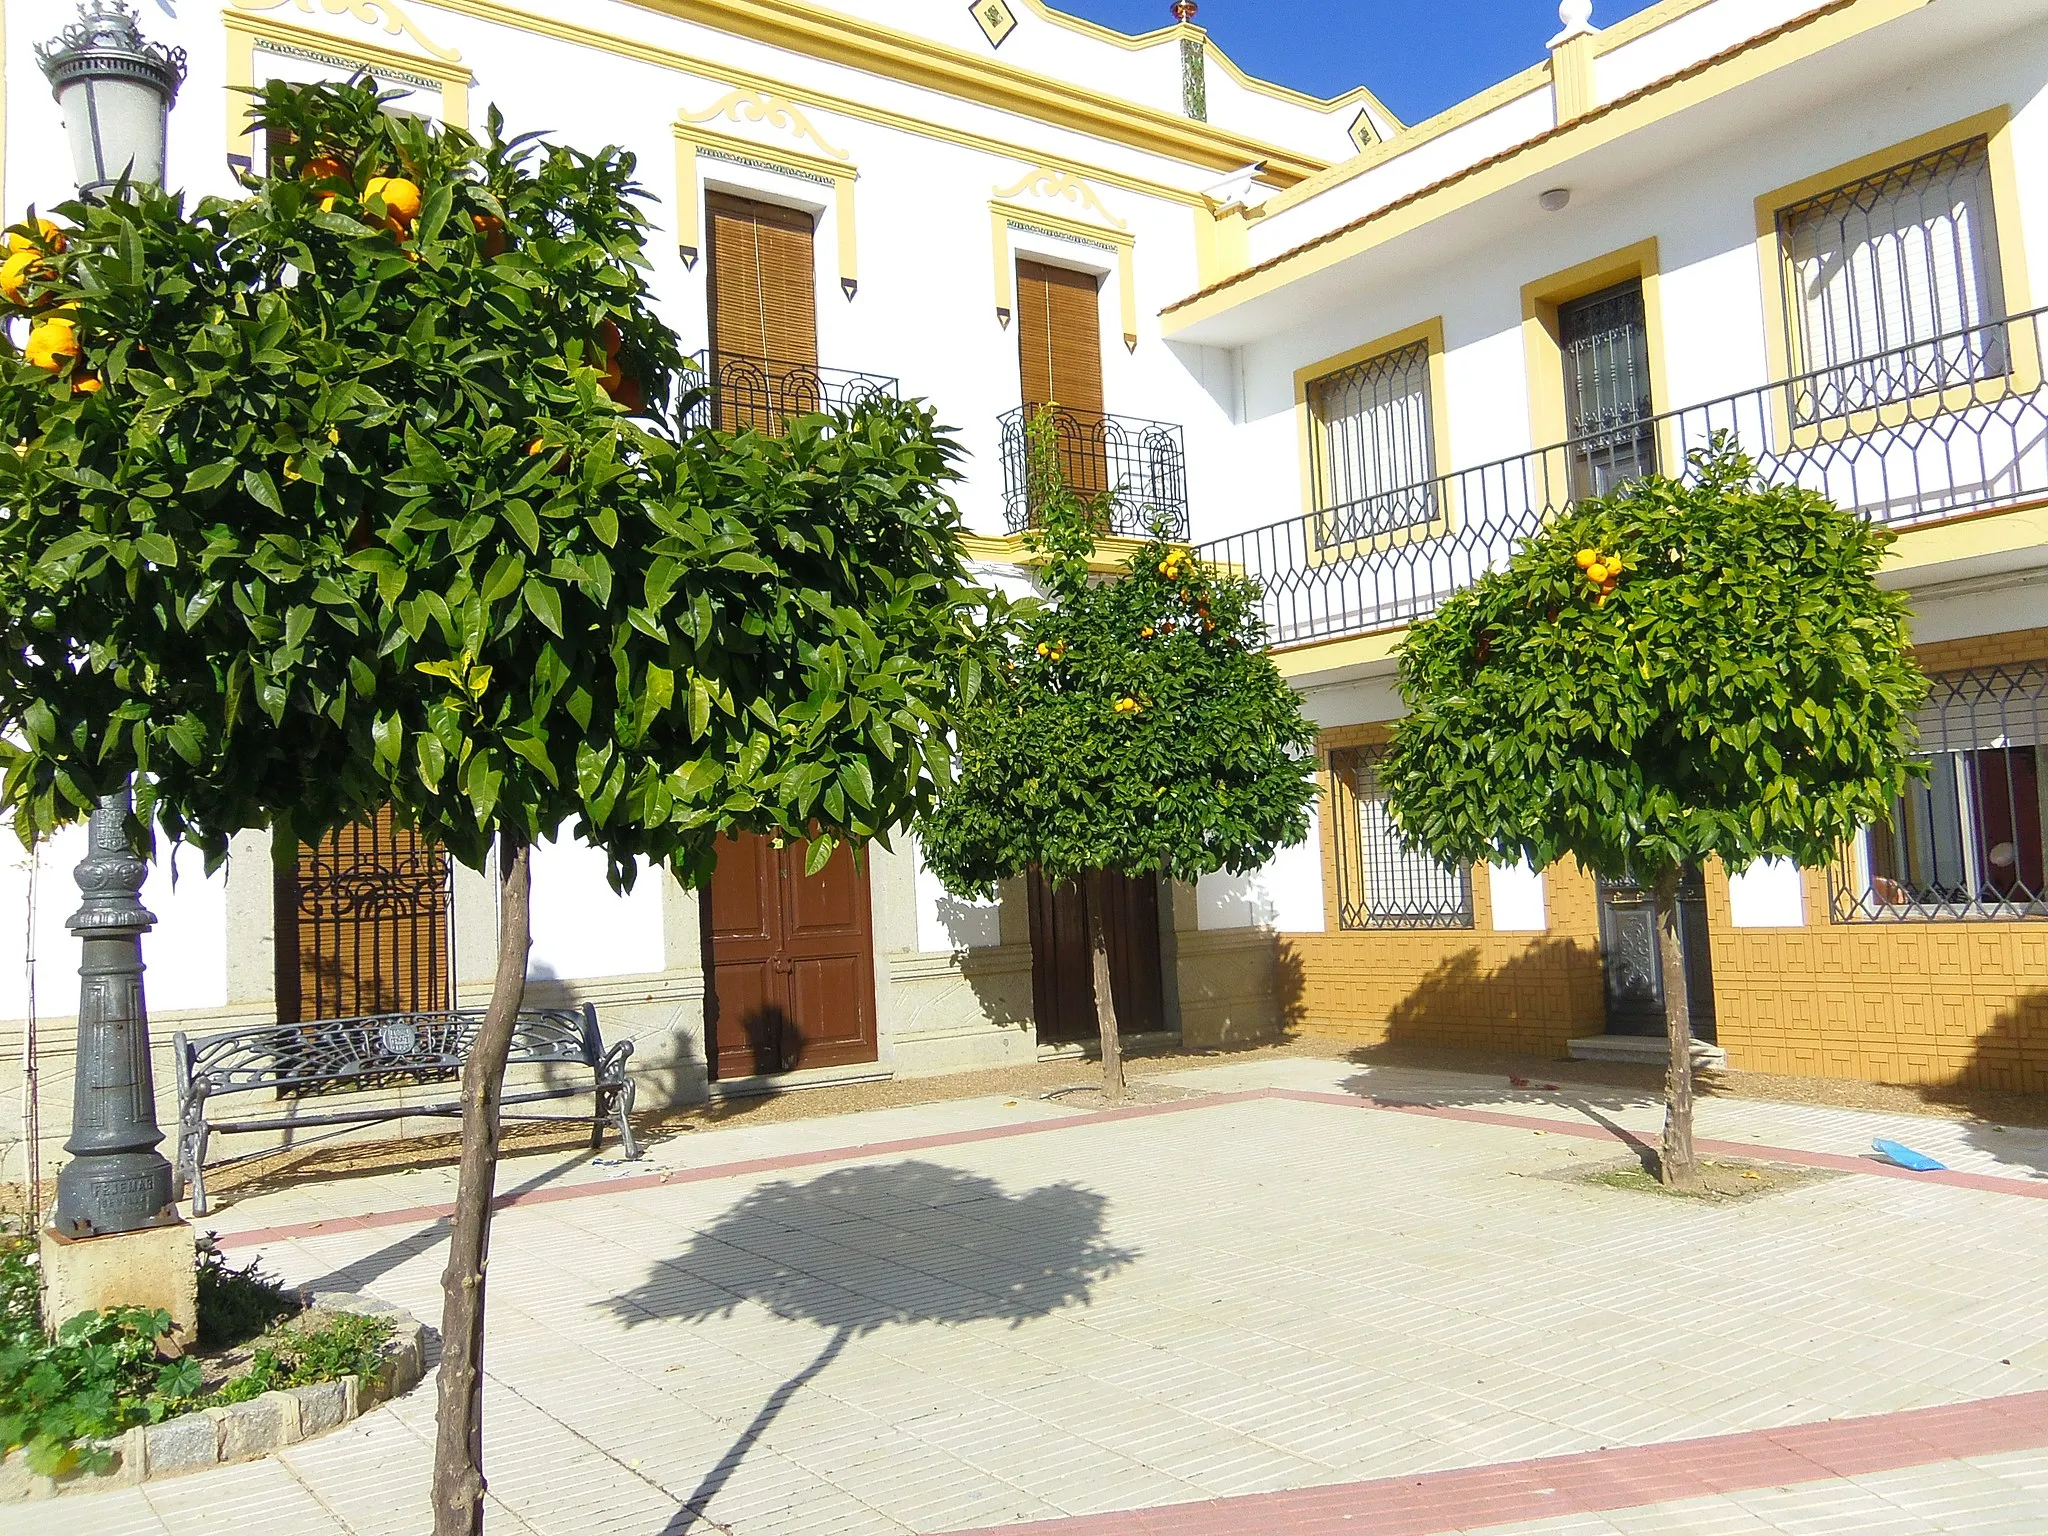
[[[1927,778],[1829,874],[1839,924],[2048,918],[2048,668],[1933,678]]]

